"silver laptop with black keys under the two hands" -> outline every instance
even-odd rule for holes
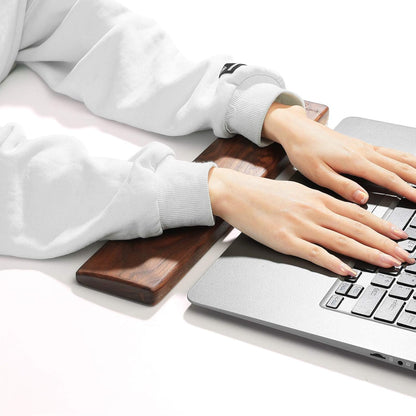
[[[416,128],[351,117],[336,130],[416,154]],[[291,180],[315,186],[299,172]],[[416,204],[361,183],[370,192],[367,209],[406,229],[409,239],[400,245],[416,256]],[[416,266],[380,269],[343,260],[359,271],[356,279],[240,234],[188,298],[199,307],[416,371]]]

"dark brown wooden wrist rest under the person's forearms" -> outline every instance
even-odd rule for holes
[[[327,106],[307,101],[306,110],[311,119],[327,122]],[[195,161],[211,160],[220,167],[275,178],[284,155],[276,143],[260,148],[236,136],[215,140]],[[231,229],[217,217],[212,227],[183,227],[158,237],[109,241],[80,267],[76,278],[85,286],[155,305]]]

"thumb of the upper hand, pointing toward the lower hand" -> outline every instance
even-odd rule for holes
[[[362,186],[335,172],[328,165],[321,165],[313,180],[318,185],[331,189],[348,201],[361,205],[368,201],[368,193]]]

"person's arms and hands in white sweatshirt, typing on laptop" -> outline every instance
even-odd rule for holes
[[[391,267],[414,263],[395,240],[406,233],[361,209],[360,176],[416,202],[416,158],[334,132],[306,117],[282,77],[215,56],[185,58],[151,19],[112,0],[5,0],[0,81],[16,64],[94,114],[165,135],[212,129],[258,146],[280,143],[303,185],[256,178],[215,163],[176,159],[161,143],[129,161],[93,157],[73,137],[27,140],[0,129],[0,254],[51,258],[103,239],[160,235],[214,224],[218,215],[269,247],[341,275],[328,250]],[[348,202],[349,201],[349,202]]]

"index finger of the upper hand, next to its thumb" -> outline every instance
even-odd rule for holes
[[[396,173],[384,169],[373,162],[366,161],[364,164],[357,165],[353,174],[363,177],[364,179],[390,189],[407,199],[416,202],[416,189],[404,181]]]

